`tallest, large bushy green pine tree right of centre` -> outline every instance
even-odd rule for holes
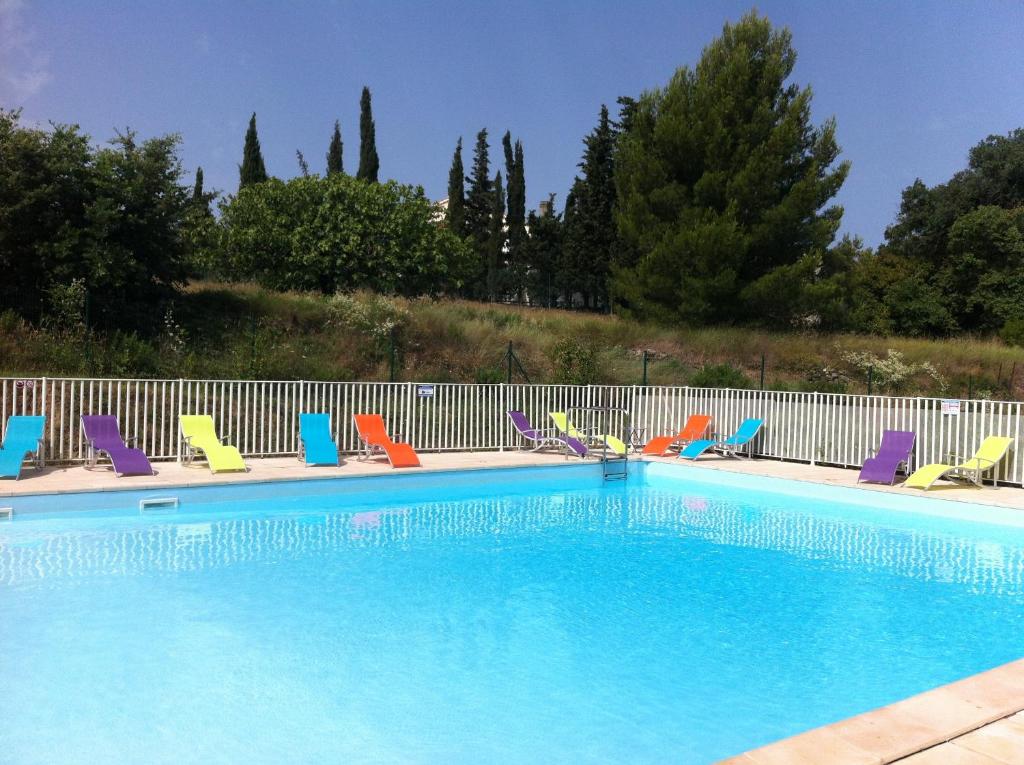
[[[769,290],[744,290],[828,247],[842,209],[825,205],[849,165],[836,164],[835,121],[811,124],[810,88],[786,84],[795,62],[790,32],[751,12],[694,70],[626,104],[616,217],[636,255],[613,289],[628,311],[757,320]]]

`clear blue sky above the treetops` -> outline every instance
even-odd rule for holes
[[[257,113],[268,170],[323,171],[334,120],[358,156],[358,99],[374,94],[382,177],[446,194],[456,139],[510,129],[530,207],[564,201],[602,102],[664,85],[745,2],[98,2],[0,0],[0,104],[33,121],[179,132],[189,172],[233,192]],[[964,167],[991,133],[1024,126],[1024,3],[762,2],[793,31],[795,82],[835,116],[853,163],[845,231],[874,245],[900,190]],[[468,156],[467,156],[468,159]],[[468,164],[468,163],[467,163]]]

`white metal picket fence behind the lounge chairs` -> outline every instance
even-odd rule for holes
[[[838,393],[790,393],[728,388],[613,385],[463,385],[418,383],[93,380],[0,378],[0,422],[11,415],[45,415],[45,459],[85,459],[81,415],[116,415],[122,433],[136,436],[155,460],[178,459],[178,415],[208,414],[219,434],[247,457],[294,455],[300,412],[331,415],[338,443],[356,450],[352,415],[380,413],[392,433],[420,451],[515,449],[521,441],[506,412],[521,410],[538,427],[548,412],[622,410],[613,432],[643,428],[644,436],[676,432],[691,414],[714,418],[728,433],[746,417],[765,427],[755,454],[800,462],[859,466],[886,429],[918,434],[914,464],[969,455],[986,435],[1018,440],[1000,479],[1024,481],[1020,402],[964,400],[943,414],[938,398]],[[580,418],[586,418],[581,412]],[[581,424],[581,423],[578,423]]]

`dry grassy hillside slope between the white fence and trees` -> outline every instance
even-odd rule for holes
[[[1020,397],[1024,352],[997,340],[944,341],[738,328],[673,329],[615,316],[461,300],[325,298],[198,283],[164,330],[96,335],[0,314],[0,374],[502,382],[509,342],[531,382],[766,387]],[[524,381],[518,369],[516,382]]]

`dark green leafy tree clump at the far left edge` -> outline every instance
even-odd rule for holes
[[[75,126],[19,118],[0,110],[0,305],[38,322],[51,290],[79,280],[90,325],[147,331],[185,275],[178,137],[128,131],[93,148]]]

